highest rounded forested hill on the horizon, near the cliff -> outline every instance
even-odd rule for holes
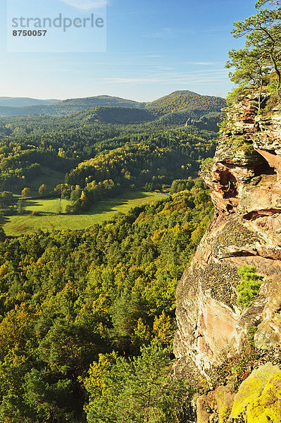
[[[146,103],[146,108],[154,109],[163,115],[186,109],[188,111],[220,111],[226,106],[225,99],[196,94],[192,91],[174,91],[154,102]]]

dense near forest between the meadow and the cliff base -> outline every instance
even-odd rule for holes
[[[1,421],[186,421],[169,345],[207,193],[197,181],[87,231],[1,233]]]

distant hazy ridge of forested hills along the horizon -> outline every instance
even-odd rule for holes
[[[63,116],[96,106],[146,109],[148,111],[153,111],[154,114],[158,116],[163,116],[170,112],[186,110],[187,112],[195,112],[196,116],[202,116],[208,112],[220,112],[220,109],[226,105],[225,100],[220,97],[200,95],[191,91],[175,91],[166,97],[156,99],[154,102],[149,103],[140,103],[130,99],[100,95],[97,97],[66,99],[53,104],[30,104],[30,102],[25,102],[23,104],[25,105],[20,106],[19,102],[14,102],[14,104],[11,102],[1,103],[0,97],[0,116],[32,114]]]

